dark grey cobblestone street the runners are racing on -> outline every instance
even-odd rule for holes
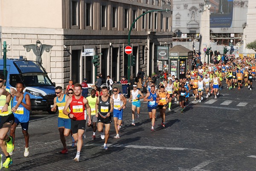
[[[124,110],[124,125],[120,138],[115,139],[111,123],[108,150],[96,132],[87,128],[80,162],[73,158],[76,148],[67,137],[68,154],[60,154],[61,141],[57,115],[32,115],[29,123],[29,157],[23,157],[24,138],[20,126],[16,129],[13,163],[3,170],[172,170],[219,171],[256,168],[255,93],[256,89],[220,91],[199,103],[191,101],[183,114],[177,104],[166,112],[166,128],[161,127],[157,112],[152,132],[146,103],[142,101],[140,119],[131,125],[131,103]]]

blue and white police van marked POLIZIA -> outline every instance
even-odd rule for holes
[[[47,76],[47,72],[39,62],[25,59],[6,59],[6,86],[16,87],[23,82],[24,92],[29,93],[32,110],[43,110],[50,114],[55,98],[55,84]],[[3,59],[0,59],[0,72],[3,73]]]

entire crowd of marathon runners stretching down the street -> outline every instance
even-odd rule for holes
[[[226,63],[220,60],[215,64],[198,64],[192,71],[187,70],[185,78],[175,78],[174,75],[168,74],[158,85],[151,77],[145,80],[144,75],[138,74],[136,81],[130,83],[131,90],[127,89],[129,83],[125,77],[117,82],[122,84],[121,91],[113,86],[111,80],[109,82],[113,88],[110,89],[107,86],[99,88],[94,85],[89,94],[88,89],[84,88],[88,87],[86,78],[82,84],[73,84],[70,81],[65,93],[63,93],[62,87],[55,87],[56,97],[52,111],[58,111],[58,130],[63,145],[61,154],[68,152],[66,137],[71,134],[72,146],[77,148],[74,160],[79,162],[86,125],[93,129],[92,140],[96,139],[96,131],[98,131],[101,139],[105,140],[103,148],[108,149],[112,117],[116,131],[114,138],[120,138],[119,130],[123,126],[123,109],[126,108],[127,103],[131,103],[131,125],[136,126],[135,119],[140,117],[141,100],[147,102],[151,131],[154,131],[157,109],[159,109],[161,125],[164,128],[165,112],[166,109],[171,111],[172,103],[179,104],[181,113],[183,113],[191,97],[194,98],[194,101],[199,102],[212,96],[217,98],[219,90],[224,88],[222,85],[224,81],[229,90],[236,87],[240,90],[245,86],[248,86],[248,90],[252,90],[252,83],[255,79],[255,63],[255,59],[244,56],[243,58],[231,58]],[[19,123],[25,139],[24,156],[29,155],[28,126],[31,102],[29,95],[26,92],[23,93],[23,83],[16,84],[16,91],[13,88],[5,87],[5,81],[3,74],[0,74],[0,146],[6,156],[6,161],[2,163],[2,154],[0,159],[1,167],[8,168],[12,164],[11,155],[15,149],[15,129]],[[144,93],[143,87],[145,87],[146,93]],[[113,93],[112,95],[110,91]],[[86,92],[85,95],[82,92]],[[130,95],[128,96],[128,94]],[[7,135],[9,130],[10,136]]]

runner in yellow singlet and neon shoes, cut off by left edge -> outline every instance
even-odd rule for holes
[[[2,90],[0,91],[0,135],[2,135],[0,139],[0,146],[3,151],[3,153],[6,156],[6,161],[3,163],[4,168],[9,168],[9,165],[12,164],[12,158],[10,157],[9,153],[12,153],[14,149],[12,136],[7,135],[7,132],[9,132],[9,129],[11,128],[12,124],[14,123],[14,115],[12,112],[16,112],[18,109],[20,103],[23,100],[23,94],[18,93],[15,89],[6,87],[4,83],[6,82],[4,75],[0,73],[0,88],[5,89],[9,94],[6,93],[6,91]],[[9,105],[9,103],[12,104],[11,97],[12,95],[19,97],[17,104],[13,107]],[[8,96],[8,97],[7,97]],[[8,109],[6,109],[8,108]],[[7,149],[6,149],[7,148]]]

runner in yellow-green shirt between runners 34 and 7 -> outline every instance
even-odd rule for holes
[[[91,93],[90,93],[91,95],[86,98],[88,100],[88,104],[90,105],[90,108],[91,108],[91,123],[90,124],[87,123],[87,126],[92,127],[92,129],[93,129],[92,140],[96,139],[96,124],[98,121],[98,119],[96,118],[96,110],[95,110],[95,104],[96,104],[96,100],[97,100],[96,91],[97,91],[97,89],[92,89]],[[87,109],[87,112],[89,112],[88,110],[89,109]]]

